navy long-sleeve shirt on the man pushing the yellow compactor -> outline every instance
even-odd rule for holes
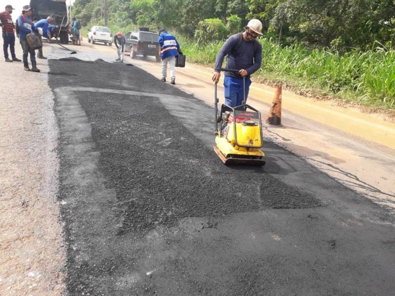
[[[217,59],[215,60],[214,71],[220,72],[222,67],[222,62],[224,57],[228,55],[226,61],[227,69],[247,70],[249,77],[251,74],[261,68],[262,64],[262,44],[258,40],[254,41],[256,43],[256,50],[254,52],[254,42],[247,42],[242,38],[240,45],[237,47],[239,37],[237,34],[228,38],[222,46],[221,50],[217,54]],[[235,47],[237,47],[235,49]],[[226,76],[242,78],[240,74],[225,72]]]

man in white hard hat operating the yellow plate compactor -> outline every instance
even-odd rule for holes
[[[245,26],[245,31],[229,37],[217,54],[212,80],[217,83],[221,76],[222,62],[226,61],[227,69],[238,70],[238,73],[225,72],[224,95],[225,105],[236,107],[243,102],[243,77],[245,77],[245,99],[247,100],[250,75],[261,68],[262,44],[256,40],[262,36],[262,23],[252,19]]]

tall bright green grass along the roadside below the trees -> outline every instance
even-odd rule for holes
[[[212,67],[223,41],[197,45],[178,38],[188,61]],[[320,95],[368,106],[395,109],[395,50],[381,44],[366,51],[281,47],[269,39],[262,44],[262,67],[254,77],[282,82]]]

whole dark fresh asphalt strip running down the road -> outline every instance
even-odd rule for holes
[[[137,67],[49,66],[69,295],[394,295],[387,210],[273,143],[225,167],[213,110]]]

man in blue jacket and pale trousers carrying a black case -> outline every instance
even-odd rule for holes
[[[180,50],[176,37],[167,33],[164,29],[159,29],[159,52],[162,59],[162,81],[166,81],[167,63],[170,65],[171,84],[176,84],[175,66],[176,57]]]

